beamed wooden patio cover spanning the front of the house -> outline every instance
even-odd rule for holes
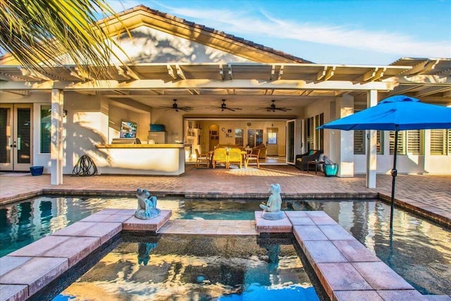
[[[274,99],[276,106],[292,109],[277,111],[289,116],[318,99],[345,94],[366,104],[369,90],[378,90],[379,99],[407,94],[423,102],[451,105],[450,74],[451,59],[400,59],[388,66],[147,63],[112,66],[110,75],[104,78],[82,74],[75,66],[39,72],[0,66],[0,92],[26,97],[56,88],[152,108],[171,106],[173,99],[178,99],[180,106],[192,107],[192,113],[205,113],[206,106],[220,106],[222,99],[228,106],[243,108],[227,113],[257,113],[255,109],[271,105]],[[272,112],[258,114],[268,113]]]

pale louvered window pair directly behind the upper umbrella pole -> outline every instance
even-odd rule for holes
[[[398,132],[397,154],[423,154],[423,130],[401,130]],[[395,150],[395,132],[390,131],[390,154]]]

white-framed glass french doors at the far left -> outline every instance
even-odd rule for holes
[[[32,104],[0,104],[0,170],[32,166]]]

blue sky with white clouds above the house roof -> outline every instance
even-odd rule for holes
[[[314,63],[451,58],[451,0],[109,0],[213,27]]]

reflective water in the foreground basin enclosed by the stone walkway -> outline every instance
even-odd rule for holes
[[[54,300],[319,300],[292,239],[123,239]]]

